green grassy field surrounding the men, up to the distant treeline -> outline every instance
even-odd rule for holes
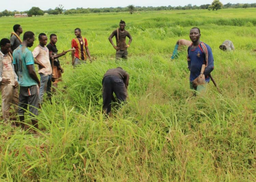
[[[75,70],[70,53],[60,59],[63,81],[40,110],[39,137],[0,124],[0,181],[256,181],[255,17],[247,8],[0,18],[1,38],[18,23],[56,33],[59,51],[79,27],[94,57]],[[116,63],[108,37],[120,19],[133,41],[129,60]],[[212,48],[221,94],[210,82],[193,97],[186,51],[170,60],[193,26]],[[226,39],[235,51],[218,49]],[[129,98],[107,119],[101,81],[117,66],[130,74]]]

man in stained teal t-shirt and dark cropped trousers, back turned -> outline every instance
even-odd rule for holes
[[[28,50],[28,47],[32,47],[34,39],[33,32],[25,32],[22,44],[13,52],[13,65],[20,85],[18,115],[23,129],[25,129],[24,113],[28,105],[30,116],[38,115],[38,88],[40,87],[40,81],[35,73],[32,52]],[[31,119],[31,121],[32,125],[38,129],[38,121],[35,119]]]

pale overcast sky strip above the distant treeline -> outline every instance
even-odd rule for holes
[[[211,4],[213,0],[1,0],[0,11],[26,11],[32,6],[40,7],[42,10],[54,9],[59,4],[64,6],[64,9],[71,9],[76,7],[93,8],[93,7],[125,7],[130,4],[135,6],[184,6],[187,4],[201,5]],[[223,4],[230,3],[255,3],[255,0],[221,0]]]

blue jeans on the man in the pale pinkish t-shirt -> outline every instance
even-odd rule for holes
[[[39,103],[41,104],[43,102],[45,91],[47,92],[47,96],[51,97],[52,74],[51,75],[44,75],[43,73],[39,73],[39,74],[40,74]]]

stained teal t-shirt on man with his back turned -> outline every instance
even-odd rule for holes
[[[16,66],[18,73],[18,83],[20,86],[29,87],[37,85],[37,82],[29,75],[27,65],[33,65],[34,58],[32,52],[24,45],[19,45],[13,52],[13,64]]]

